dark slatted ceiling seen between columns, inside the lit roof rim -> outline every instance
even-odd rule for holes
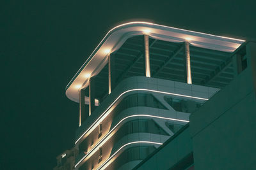
[[[184,69],[184,43],[172,43],[150,38],[151,77],[186,82]],[[192,82],[209,87],[225,87],[233,78],[232,53],[189,46]],[[144,38],[134,36],[115,52],[117,83],[130,76],[145,76]],[[95,76],[96,96],[108,95],[108,64]],[[88,94],[87,94],[88,95]]]

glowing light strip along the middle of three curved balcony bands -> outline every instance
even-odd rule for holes
[[[157,116],[154,116],[154,115],[131,115],[129,117],[125,117],[122,120],[120,120],[120,122],[118,122],[118,124],[116,124],[115,127],[113,127],[113,129],[111,129],[111,131],[109,131],[108,134],[106,134],[106,136],[104,136],[104,138],[102,138],[97,143],[97,145],[95,145],[86,155],[84,155],[84,157],[81,160],[79,160],[79,162],[77,162],[76,166],[78,164],[80,164],[86,157],[89,157],[90,155],[95,153],[100,146],[104,145],[104,143],[106,143],[106,141],[108,141],[108,139],[111,138],[111,136],[109,134],[111,134],[111,132],[113,132],[118,125],[120,125],[122,122],[124,122],[124,120],[126,120],[127,118],[131,118],[131,117],[153,117],[153,118],[161,118],[161,119],[165,119],[165,120],[174,120],[174,121],[178,121],[178,122],[186,122],[186,123],[189,122],[188,120],[180,120],[180,119],[177,119],[177,118],[157,117]]]

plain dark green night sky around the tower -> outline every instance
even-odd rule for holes
[[[52,169],[74,146],[79,105],[65,87],[116,25],[140,20],[256,39],[253,1],[98,2],[1,2],[0,169]]]

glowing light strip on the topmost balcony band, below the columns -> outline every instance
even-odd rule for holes
[[[100,115],[99,118],[97,118],[97,120],[95,122],[93,122],[93,124],[76,140],[75,142],[75,145],[77,144],[77,142],[83,138],[83,136],[88,132],[88,131],[93,131],[93,129],[95,129],[97,127],[97,125],[99,125],[99,122],[102,122],[102,120],[104,120],[104,118],[106,118],[108,116],[108,114],[111,112],[111,111],[108,111],[109,108],[111,108],[113,106],[113,104],[116,103],[116,101],[122,97],[124,94],[126,94],[127,92],[132,92],[132,91],[138,91],[138,90],[141,90],[141,91],[148,91],[148,92],[157,92],[157,93],[161,93],[161,94],[168,94],[168,95],[172,95],[172,96],[180,96],[180,97],[188,97],[188,98],[192,98],[192,99],[200,99],[200,100],[204,100],[204,101],[207,101],[208,99],[205,99],[205,98],[202,98],[202,97],[194,97],[194,96],[186,96],[186,95],[183,95],[183,94],[175,94],[175,93],[170,93],[170,92],[161,92],[161,91],[157,91],[157,90],[150,90],[150,89],[131,89],[131,90],[127,90],[125,92],[123,92],[122,94],[120,94],[120,96],[118,96],[115,101],[113,101],[112,104],[110,104],[110,106],[102,113],[102,115]],[[108,112],[107,112],[108,111]],[[107,113],[107,114],[105,114]]]

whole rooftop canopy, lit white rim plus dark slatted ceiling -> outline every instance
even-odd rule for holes
[[[243,40],[135,22],[109,31],[68,83],[67,97],[78,102],[79,88],[88,86],[88,76],[95,77],[98,99],[108,94],[106,51],[115,57],[117,82],[129,76],[144,76],[143,31],[146,29],[150,32],[151,77],[185,82],[184,41],[189,39],[193,84],[222,88],[232,80],[231,55]]]

